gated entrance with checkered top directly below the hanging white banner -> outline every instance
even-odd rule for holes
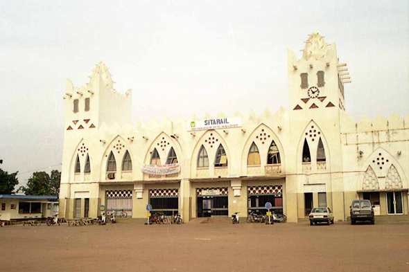
[[[173,215],[179,212],[178,189],[153,189],[149,190],[149,203],[152,205],[151,212]]]

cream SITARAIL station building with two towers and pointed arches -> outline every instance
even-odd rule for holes
[[[184,221],[247,217],[270,202],[290,222],[318,206],[345,221],[354,199],[408,215],[409,116],[353,120],[347,66],[319,33],[301,59],[287,55],[288,110],[261,114],[133,123],[132,91],[114,91],[105,64],[85,86],[67,80],[60,217],[96,217],[104,205],[144,218],[148,204]]]

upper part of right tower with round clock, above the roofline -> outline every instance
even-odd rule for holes
[[[306,116],[345,111],[344,84],[350,80],[347,64],[338,60],[336,44],[327,44],[316,32],[305,43],[301,59],[287,51],[290,111]]]

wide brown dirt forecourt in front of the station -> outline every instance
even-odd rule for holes
[[[409,222],[5,226],[1,271],[409,271]]]

